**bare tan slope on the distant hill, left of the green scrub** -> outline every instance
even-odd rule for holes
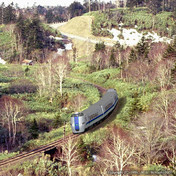
[[[64,25],[58,27],[58,30],[63,34],[74,35],[75,38],[72,40],[73,45],[77,49],[77,56],[89,55],[94,51],[95,43],[106,42],[109,45],[115,44],[108,37],[94,36],[92,34],[91,26],[93,21],[93,16],[79,16],[72,18]],[[53,25],[50,25],[51,27]],[[56,25],[57,26],[57,25]],[[78,39],[76,39],[76,37]],[[79,37],[83,37],[82,40]]]

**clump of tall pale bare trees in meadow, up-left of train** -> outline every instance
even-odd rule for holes
[[[36,72],[36,80],[40,96],[49,96],[52,99],[57,91],[58,82],[62,96],[62,83],[68,71],[68,58],[66,55],[50,55],[46,63],[41,64]]]

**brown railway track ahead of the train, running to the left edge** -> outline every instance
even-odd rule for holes
[[[44,153],[45,151],[53,149],[56,146],[58,146],[59,144],[63,144],[69,138],[76,139],[78,136],[79,135],[76,135],[76,134],[70,134],[68,136],[65,136],[62,139],[59,139],[59,140],[57,140],[55,142],[52,142],[50,144],[47,144],[47,145],[40,146],[39,148],[31,150],[27,153],[22,153],[22,154],[19,154],[19,155],[15,156],[15,157],[12,157],[12,158],[9,158],[9,159],[6,159],[6,160],[2,160],[2,161],[0,161],[0,175],[1,175],[1,172],[3,171],[3,168],[8,167],[8,166],[12,166],[13,164],[17,164],[19,162],[24,162],[25,160],[27,160],[29,158],[34,158],[36,156],[41,156],[42,153]]]

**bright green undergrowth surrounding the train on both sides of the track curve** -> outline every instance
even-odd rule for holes
[[[27,78],[32,77],[36,68],[37,66],[34,68],[30,67],[31,74]],[[58,106],[60,103],[60,99],[58,99],[59,97],[55,97],[58,104],[51,104],[49,103],[49,99],[45,97],[39,98],[37,93],[13,95],[16,98],[22,99],[26,103],[29,110],[32,112],[34,111],[34,113],[31,112],[28,116],[26,116],[26,121],[29,124],[35,118],[38,123],[46,121],[49,122],[50,124],[48,124],[48,126],[52,128],[51,123],[54,121],[57,113],[60,112],[61,120],[67,122],[66,134],[72,133],[70,127],[70,115],[74,111],[74,108],[72,107],[72,101],[74,98],[77,98],[77,95],[85,97],[85,101],[82,103],[80,110],[84,110],[91,104],[97,102],[100,99],[100,93],[97,88],[91,84],[96,83],[107,89],[116,89],[119,95],[119,108],[115,117],[101,129],[97,129],[94,132],[85,134],[84,142],[86,144],[91,144],[93,142],[101,144],[102,140],[104,140],[107,135],[107,125],[109,126],[116,124],[128,129],[128,125],[135,114],[147,111],[153,97],[156,95],[154,91],[155,89],[151,85],[136,85],[118,79],[118,75],[120,73],[118,68],[104,69],[90,73],[90,64],[86,62],[71,63],[71,68],[72,72],[70,77],[67,77],[63,82],[63,94],[67,94],[67,101],[70,103],[68,110],[66,111],[60,111],[60,107]],[[4,66],[0,67],[0,74],[2,74],[3,71],[7,71],[8,69],[9,68]],[[24,70],[24,67],[21,69]],[[83,80],[87,80],[89,83],[83,82]],[[62,137],[63,126],[57,129],[52,128],[50,132],[40,133],[38,139],[26,142],[21,150],[31,150],[40,145],[48,144]]]

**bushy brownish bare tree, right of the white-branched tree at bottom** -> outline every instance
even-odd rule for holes
[[[140,164],[152,164],[158,161],[161,142],[164,137],[163,120],[154,112],[142,115],[133,126],[133,136],[138,144],[137,160]]]

